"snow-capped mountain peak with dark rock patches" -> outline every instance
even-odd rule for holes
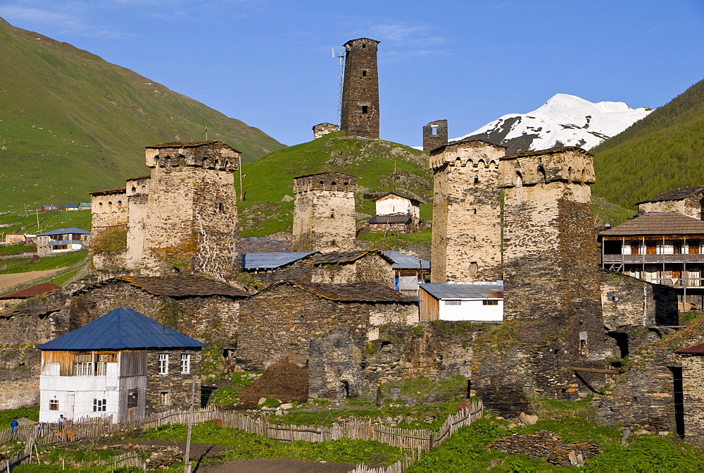
[[[479,130],[455,138],[478,138],[508,147],[513,153],[556,146],[595,147],[650,113],[652,109],[631,109],[623,102],[598,102],[574,95],[556,94],[539,109],[510,113]]]

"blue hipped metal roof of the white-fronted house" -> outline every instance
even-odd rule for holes
[[[90,324],[38,345],[39,350],[123,350],[126,348],[201,348],[185,336],[127,307],[118,307]]]

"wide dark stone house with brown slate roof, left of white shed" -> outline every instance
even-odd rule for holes
[[[311,340],[345,331],[364,345],[384,324],[416,324],[417,301],[379,283],[280,281],[241,304],[237,362],[265,369],[306,364]]]

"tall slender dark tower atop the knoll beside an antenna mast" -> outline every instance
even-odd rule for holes
[[[344,44],[340,129],[348,136],[379,138],[377,44],[378,41],[369,38],[352,39]]]

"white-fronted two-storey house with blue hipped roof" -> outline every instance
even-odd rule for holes
[[[112,416],[113,422],[191,405],[200,391],[201,348],[132,309],[120,307],[37,346],[41,422]]]

